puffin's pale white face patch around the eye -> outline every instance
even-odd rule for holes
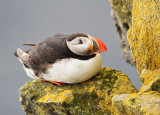
[[[93,45],[92,41],[86,37],[76,37],[71,41],[66,41],[68,48],[78,55],[90,55],[88,48]]]

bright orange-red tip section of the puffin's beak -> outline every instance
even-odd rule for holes
[[[97,38],[94,38],[94,37],[92,37],[92,39],[94,39],[98,44],[99,50],[98,50],[97,53],[101,53],[101,52],[107,51],[106,45],[101,40],[99,40]]]

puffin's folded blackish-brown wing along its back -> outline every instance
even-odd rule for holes
[[[29,55],[29,67],[37,76],[39,73],[45,73],[47,68],[57,60],[69,58],[65,52],[65,39],[65,35],[48,37],[26,51]]]

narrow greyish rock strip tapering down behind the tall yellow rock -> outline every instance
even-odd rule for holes
[[[133,0],[109,0],[112,6],[111,15],[114,20],[117,32],[120,37],[120,45],[123,53],[123,58],[126,62],[135,66],[132,59],[130,46],[127,41],[127,31],[131,27],[132,22],[132,2]]]

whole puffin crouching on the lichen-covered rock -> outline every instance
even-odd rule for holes
[[[100,53],[107,51],[105,44],[89,34],[56,34],[27,51],[18,48],[14,55],[22,63],[26,74],[33,79],[57,85],[87,81],[101,67]]]

